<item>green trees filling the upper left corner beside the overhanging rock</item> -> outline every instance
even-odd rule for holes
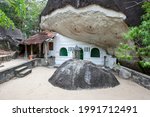
[[[0,2],[0,9],[7,18],[11,19],[16,28],[30,36],[39,30],[39,15],[46,2],[47,0],[5,0],[5,2]],[[8,23],[3,21],[4,19],[0,17],[0,21],[8,26]]]

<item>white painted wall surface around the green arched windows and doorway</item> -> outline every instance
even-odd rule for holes
[[[68,51],[69,47],[75,47],[76,45],[83,49],[83,59],[92,61],[93,63],[97,65],[104,65],[104,56],[107,56],[107,66],[110,68],[113,67],[113,65],[116,63],[116,58],[112,58],[112,56],[107,55],[106,51],[102,48],[99,48],[93,44],[88,44],[85,42],[76,41],[73,39],[70,39],[68,37],[62,36],[60,34],[57,34],[54,38],[54,50],[49,52],[49,56],[55,56],[55,63],[60,65],[66,60],[73,58],[73,52]],[[59,51],[62,47],[65,47],[68,51],[68,56],[59,56]],[[90,51],[85,52],[84,48],[89,47]],[[92,48],[98,48],[100,50],[100,57],[90,57]]]

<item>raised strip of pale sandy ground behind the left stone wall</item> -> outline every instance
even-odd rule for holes
[[[1,65],[3,65],[3,67],[0,67],[0,71],[14,67],[14,66],[17,66],[17,65],[20,65],[26,61],[29,61],[29,60],[27,60],[27,59],[13,59],[11,61],[3,62],[3,63],[1,63]]]

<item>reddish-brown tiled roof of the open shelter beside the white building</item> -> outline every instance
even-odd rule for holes
[[[23,42],[21,42],[21,44],[24,45],[40,44],[43,43],[46,39],[55,37],[55,35],[56,35],[55,32],[48,32],[48,31],[40,32],[38,34],[29,37],[27,40],[24,40]]]

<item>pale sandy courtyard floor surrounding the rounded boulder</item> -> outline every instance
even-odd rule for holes
[[[39,100],[101,100],[101,99],[150,99],[150,90],[138,84],[118,78],[120,85],[107,89],[64,90],[52,86],[48,79],[56,69],[37,67],[24,78],[12,79],[0,84],[0,99]]]

